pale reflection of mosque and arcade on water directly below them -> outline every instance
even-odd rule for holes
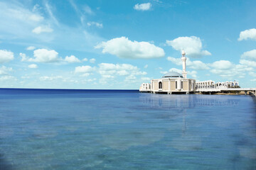
[[[151,107],[162,108],[194,108],[197,106],[237,106],[240,99],[213,98],[202,95],[166,96],[141,94],[139,101],[150,103]]]

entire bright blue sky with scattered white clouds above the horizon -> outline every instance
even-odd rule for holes
[[[181,72],[256,87],[256,1],[0,0],[0,88],[139,89]]]

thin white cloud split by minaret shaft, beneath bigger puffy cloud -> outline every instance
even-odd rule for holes
[[[182,65],[181,58],[167,57],[167,60],[169,60],[170,62],[172,62],[176,65]],[[205,63],[203,63],[199,60],[191,61],[189,59],[189,57],[187,57],[186,66],[191,68],[191,69],[201,69],[201,70],[210,69],[210,67],[208,67],[207,64],[205,64]]]

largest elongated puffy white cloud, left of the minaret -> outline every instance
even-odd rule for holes
[[[128,38],[114,38],[107,42],[101,42],[95,48],[103,48],[103,53],[117,55],[120,58],[156,58],[164,57],[164,50],[149,42],[132,42]]]

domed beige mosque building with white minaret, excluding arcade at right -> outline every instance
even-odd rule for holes
[[[159,79],[152,79],[150,84],[142,84],[139,91],[151,92],[152,94],[191,94],[196,91],[196,80],[187,78],[186,52],[184,50],[181,60],[182,74],[168,72]]]

